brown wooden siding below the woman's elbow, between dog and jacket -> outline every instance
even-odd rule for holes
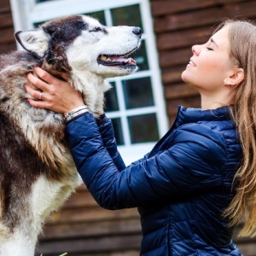
[[[68,256],[137,256],[140,241],[136,209],[102,209],[82,186],[60,212],[49,218],[37,255],[67,252]]]

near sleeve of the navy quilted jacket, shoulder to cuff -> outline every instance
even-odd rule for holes
[[[184,125],[172,144],[122,172],[102,143],[90,114],[67,125],[73,160],[91,195],[107,209],[140,207],[221,186],[227,154],[221,133],[207,125]]]

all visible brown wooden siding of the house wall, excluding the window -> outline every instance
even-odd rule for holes
[[[256,19],[256,1],[152,0],[151,7],[166,111],[172,124],[178,104],[200,105],[195,90],[180,79],[191,56],[191,46],[205,43],[212,26],[224,17]],[[16,49],[9,0],[0,1],[0,32],[0,53]],[[104,210],[82,186],[47,220],[37,255],[67,252],[67,256],[137,256],[141,238],[136,209]],[[235,236],[235,241],[244,256],[256,256],[255,240]]]

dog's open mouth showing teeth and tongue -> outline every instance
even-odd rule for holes
[[[99,64],[109,67],[137,67],[136,61],[128,57],[134,50],[125,55],[99,55],[97,61]]]

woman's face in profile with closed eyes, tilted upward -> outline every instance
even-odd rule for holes
[[[212,35],[207,44],[192,47],[193,56],[182,73],[182,79],[200,93],[218,91],[234,67],[229,57],[228,32],[229,26],[224,26]]]

